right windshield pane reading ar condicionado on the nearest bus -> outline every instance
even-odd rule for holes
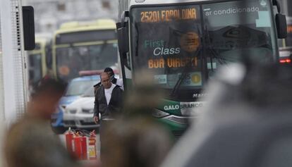
[[[211,68],[211,61],[218,68],[222,64],[242,61],[243,58],[258,63],[275,60],[276,36],[273,34],[268,2],[243,3],[246,2],[229,1],[202,6],[208,68]]]

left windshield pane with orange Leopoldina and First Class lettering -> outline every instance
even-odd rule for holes
[[[133,67],[154,73],[157,85],[170,94],[182,75],[181,89],[202,87],[200,7],[134,8],[131,12]]]

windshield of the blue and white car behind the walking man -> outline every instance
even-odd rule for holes
[[[97,80],[72,80],[68,85],[65,96],[80,96],[84,94],[87,89],[92,88],[96,83]]]

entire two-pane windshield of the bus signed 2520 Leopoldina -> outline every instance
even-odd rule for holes
[[[276,61],[271,9],[267,0],[131,8],[133,68],[178,95],[202,89],[219,66]]]

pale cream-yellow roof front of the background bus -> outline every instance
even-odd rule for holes
[[[87,30],[116,30],[116,22],[112,19],[98,19],[88,22],[72,21],[63,23],[55,34]]]

